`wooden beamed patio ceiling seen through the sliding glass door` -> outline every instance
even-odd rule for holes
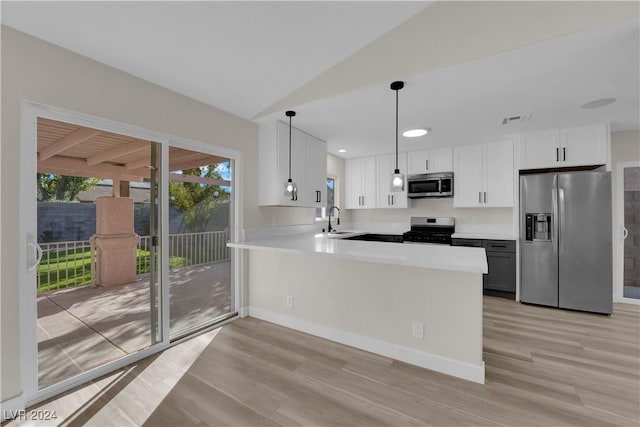
[[[117,181],[143,181],[151,175],[151,141],[38,118],[38,172]],[[213,156],[169,147],[169,170],[180,171],[226,162]],[[226,180],[170,173],[172,181],[230,185]]]

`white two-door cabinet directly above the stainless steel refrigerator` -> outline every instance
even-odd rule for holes
[[[609,126],[598,124],[552,129],[522,136],[520,169],[606,165]]]

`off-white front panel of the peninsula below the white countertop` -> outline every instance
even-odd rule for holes
[[[480,273],[250,252],[252,316],[451,375],[483,371]]]

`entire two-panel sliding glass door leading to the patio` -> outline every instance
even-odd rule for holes
[[[236,314],[238,153],[26,101],[21,117],[28,405]]]

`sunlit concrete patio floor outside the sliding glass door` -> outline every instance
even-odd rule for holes
[[[231,310],[230,262],[169,274],[171,335]],[[38,378],[44,387],[151,344],[149,278],[38,296]]]

